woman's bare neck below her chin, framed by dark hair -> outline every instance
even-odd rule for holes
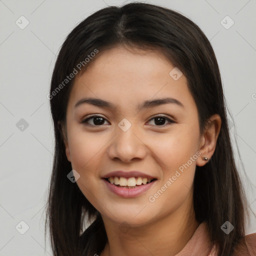
[[[102,216],[108,241],[100,256],[133,256],[177,254],[193,235],[199,223],[194,213],[188,213],[182,207],[175,212],[163,216],[157,221],[139,227],[129,227],[120,232],[119,224],[113,223]]]

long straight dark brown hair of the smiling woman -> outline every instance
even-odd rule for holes
[[[53,254],[100,254],[107,241],[100,213],[76,182],[67,178],[72,167],[65,155],[61,130],[65,127],[67,102],[74,81],[72,78],[66,82],[66,76],[81,66],[79,63],[83,63],[81,71],[84,71],[103,50],[116,45],[160,50],[182,71],[197,106],[200,134],[212,114],[220,115],[215,151],[205,165],[195,168],[193,208],[196,220],[206,221],[218,256],[231,255],[245,235],[245,213],[248,215],[248,212],[230,142],[226,101],[215,54],[209,40],[190,19],[177,11],[141,2],[107,6],[93,12],[73,28],[59,50],[49,94],[55,148],[45,221]],[[95,49],[99,53],[85,64],[85,58]],[[66,84],[63,85],[63,81]],[[91,221],[87,228],[84,228],[85,220]],[[226,220],[235,227],[228,235],[220,228]]]

